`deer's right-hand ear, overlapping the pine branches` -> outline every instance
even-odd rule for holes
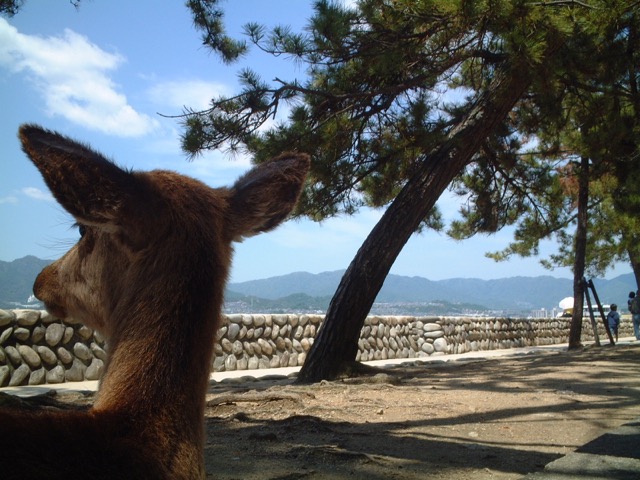
[[[231,190],[232,236],[249,237],[279,225],[298,201],[308,171],[308,155],[284,153],[240,177]]]

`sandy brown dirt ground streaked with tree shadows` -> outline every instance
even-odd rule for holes
[[[408,361],[307,386],[225,379],[207,405],[212,479],[518,479],[640,417],[640,342]]]

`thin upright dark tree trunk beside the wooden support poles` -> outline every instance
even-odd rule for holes
[[[589,159],[582,157],[578,173],[578,225],[576,227],[575,260],[573,264],[573,314],[569,327],[569,350],[582,347],[582,316],[584,305],[584,267],[587,257],[587,222],[589,203]]]

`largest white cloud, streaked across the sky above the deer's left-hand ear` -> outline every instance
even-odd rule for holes
[[[109,135],[136,137],[158,122],[129,105],[109,77],[124,61],[72,30],[58,37],[24,35],[0,18],[0,66],[25,74],[48,114]]]

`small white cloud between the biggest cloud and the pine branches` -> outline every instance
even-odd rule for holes
[[[149,89],[151,100],[158,105],[193,110],[205,110],[211,99],[228,93],[225,85],[204,80],[162,82]]]

